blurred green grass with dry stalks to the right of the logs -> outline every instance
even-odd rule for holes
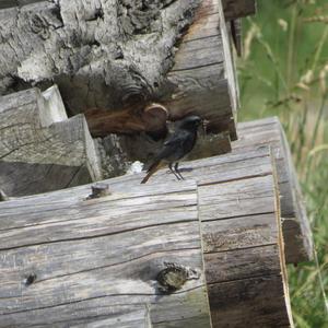
[[[258,0],[244,23],[238,73],[238,120],[280,117],[314,234],[316,260],[289,268],[295,326],[328,328],[327,1]]]

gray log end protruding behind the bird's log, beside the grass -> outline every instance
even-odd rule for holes
[[[277,117],[238,125],[238,141],[234,152],[270,145],[274,154],[281,201],[282,229],[285,257],[289,263],[311,260],[313,257],[312,232],[290,148]]]

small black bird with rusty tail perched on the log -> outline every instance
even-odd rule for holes
[[[163,162],[168,163],[169,171],[178,180],[184,179],[178,171],[179,161],[192,150],[197,140],[197,130],[201,122],[201,118],[196,115],[187,116],[176,122],[174,133],[164,142],[162,150],[155,155],[141,184],[145,184]]]

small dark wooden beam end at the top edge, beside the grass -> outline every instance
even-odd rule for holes
[[[222,5],[227,21],[253,15],[256,12],[256,0],[222,0]]]

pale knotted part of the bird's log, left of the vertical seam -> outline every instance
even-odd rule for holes
[[[107,183],[0,204],[0,327],[211,327],[196,184]]]

